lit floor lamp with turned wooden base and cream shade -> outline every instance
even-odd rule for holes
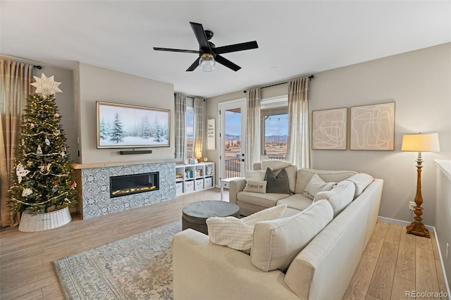
[[[423,214],[423,197],[421,196],[421,168],[423,168],[423,159],[421,158],[421,152],[428,151],[440,151],[440,145],[438,144],[438,133],[424,133],[416,135],[404,135],[402,137],[402,151],[416,151],[418,152],[418,158],[416,158],[416,196],[415,196],[415,218],[414,222],[407,226],[407,233],[412,235],[419,235],[421,237],[430,238],[429,232],[421,223],[421,215]]]

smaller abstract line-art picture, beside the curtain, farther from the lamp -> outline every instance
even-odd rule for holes
[[[311,149],[346,150],[347,108],[313,111]]]

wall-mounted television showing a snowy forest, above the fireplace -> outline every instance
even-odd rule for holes
[[[171,111],[96,102],[97,148],[168,147]]]

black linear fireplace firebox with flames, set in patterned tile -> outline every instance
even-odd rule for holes
[[[110,177],[110,198],[157,189],[159,189],[158,172]]]

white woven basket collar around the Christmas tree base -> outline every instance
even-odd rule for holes
[[[70,217],[70,211],[67,206],[58,211],[38,213],[37,215],[24,211],[20,218],[19,231],[37,232],[54,229],[66,225],[70,220],[72,220],[72,218]]]

